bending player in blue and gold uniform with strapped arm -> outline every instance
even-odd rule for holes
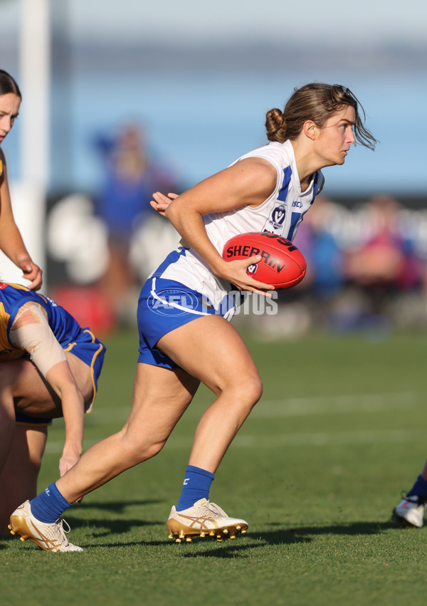
[[[60,475],[82,452],[105,346],[51,299],[0,282],[0,533],[11,508],[37,494],[53,417],[64,417]]]

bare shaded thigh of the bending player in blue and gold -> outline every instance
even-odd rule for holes
[[[62,416],[60,398],[29,360],[0,362],[0,383],[7,385],[16,410],[46,418]]]

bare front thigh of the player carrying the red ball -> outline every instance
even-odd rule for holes
[[[241,335],[221,315],[206,315],[172,330],[157,348],[216,393],[236,382],[260,382]]]

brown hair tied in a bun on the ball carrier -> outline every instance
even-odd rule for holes
[[[279,143],[296,139],[306,120],[312,120],[321,128],[345,105],[351,105],[356,113],[354,136],[357,141],[364,147],[369,147],[369,150],[374,150],[377,140],[364,127],[366,118],[364,108],[349,88],[339,84],[311,83],[295,88],[283,112],[277,108],[267,112],[265,116],[267,138]]]

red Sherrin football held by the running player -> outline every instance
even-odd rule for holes
[[[275,291],[295,286],[305,276],[307,262],[295,244],[268,231],[251,231],[229,239],[223,249],[226,261],[260,255],[261,261],[247,273],[260,282],[273,284]]]

